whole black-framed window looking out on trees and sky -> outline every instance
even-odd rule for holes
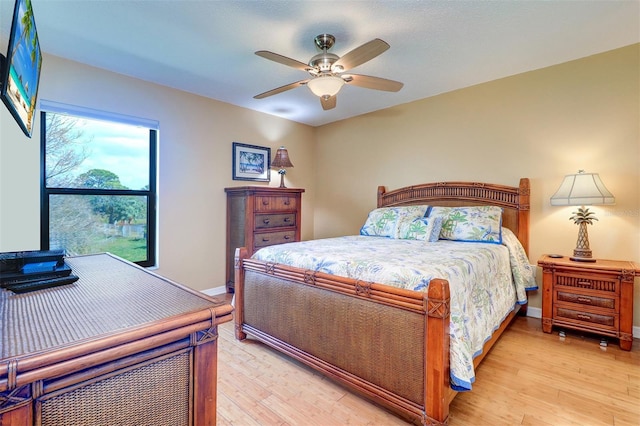
[[[155,265],[157,124],[41,105],[41,246]]]

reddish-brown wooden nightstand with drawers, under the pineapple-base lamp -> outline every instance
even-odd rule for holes
[[[542,331],[553,326],[572,328],[620,339],[620,348],[633,343],[633,280],[640,265],[597,259],[576,262],[548,255],[542,268]]]

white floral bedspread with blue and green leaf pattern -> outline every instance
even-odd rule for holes
[[[536,289],[533,268],[515,235],[503,228],[503,243],[425,242],[346,236],[280,244],[254,258],[332,275],[424,291],[432,278],[451,291],[451,387],[471,390],[473,358],[525,290]]]

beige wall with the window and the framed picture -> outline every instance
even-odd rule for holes
[[[158,273],[204,290],[224,285],[231,144],[285,145],[294,168],[289,187],[306,188],[303,236],[313,234],[314,134],[309,126],[119,74],[45,56],[39,97],[157,120],[159,139]],[[0,108],[0,251],[40,247],[40,118],[26,138]],[[270,186],[280,177],[271,173]]]

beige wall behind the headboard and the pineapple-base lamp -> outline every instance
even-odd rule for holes
[[[528,177],[535,264],[575,247],[574,208],[549,198],[565,174],[585,169],[616,197],[592,208],[594,257],[640,263],[639,53],[636,44],[319,128],[315,237],[357,233],[378,185]],[[540,307],[539,295],[531,305]]]

